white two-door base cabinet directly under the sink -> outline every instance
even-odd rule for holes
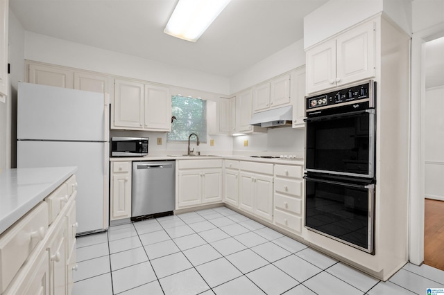
[[[176,161],[177,208],[222,201],[222,160]]]

